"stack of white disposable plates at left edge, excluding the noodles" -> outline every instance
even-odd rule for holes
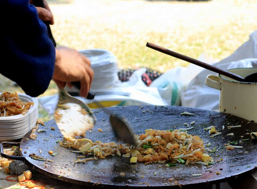
[[[0,93],[1,94],[1,93]],[[18,94],[22,102],[34,102],[25,114],[0,117],[0,140],[14,140],[22,138],[35,127],[38,119],[38,100],[25,94]]]

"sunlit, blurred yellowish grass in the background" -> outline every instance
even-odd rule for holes
[[[165,72],[188,63],[147,48],[152,42],[198,58],[218,61],[232,54],[256,30],[256,0],[146,1],[48,0],[58,45],[76,50],[102,48],[120,68],[149,67]],[[17,91],[0,76],[0,91]],[[58,93],[52,81],[41,96]],[[39,108],[40,117],[48,120]]]

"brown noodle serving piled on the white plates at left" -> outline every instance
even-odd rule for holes
[[[18,94],[5,91],[0,95],[0,116],[26,114],[33,102],[21,102]]]

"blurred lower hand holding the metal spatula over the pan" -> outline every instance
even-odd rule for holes
[[[64,88],[66,83],[71,87],[71,82],[80,81],[79,95],[87,97],[94,77],[94,71],[90,66],[90,60],[78,51],[57,47],[53,80],[59,88]]]

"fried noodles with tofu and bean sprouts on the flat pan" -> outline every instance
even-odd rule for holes
[[[172,162],[172,163],[200,163],[212,164],[212,158],[204,149],[204,142],[199,136],[193,136],[186,131],[179,130],[145,130],[144,134],[135,135],[137,145],[116,144],[114,142],[92,142],[90,139],[75,139],[64,137],[60,145],[72,147],[74,153],[82,153],[86,159],[74,160],[75,163],[104,159],[107,156],[131,157],[130,163],[144,162]]]

